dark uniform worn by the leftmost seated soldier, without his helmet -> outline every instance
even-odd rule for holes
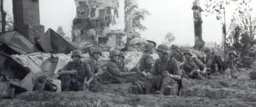
[[[84,90],[84,79],[86,77],[94,77],[91,73],[90,66],[82,62],[80,64],[75,64],[74,62],[68,62],[61,70],[76,70],[76,75],[64,74],[61,75],[61,89],[62,91],[82,91]],[[60,70],[60,71],[61,71]]]

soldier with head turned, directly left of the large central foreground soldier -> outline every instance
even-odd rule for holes
[[[139,61],[139,68],[141,72],[150,72],[150,69],[152,69],[152,65],[154,64],[154,60],[151,54],[153,54],[154,51],[154,44],[149,42],[145,45],[145,51],[143,55],[141,56],[141,59]]]

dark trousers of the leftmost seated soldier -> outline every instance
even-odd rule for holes
[[[61,91],[83,91],[83,82],[73,79],[69,74],[61,75]]]

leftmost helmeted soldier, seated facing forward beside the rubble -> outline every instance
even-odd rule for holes
[[[81,55],[81,50],[74,50],[71,55],[73,61],[68,62],[58,72],[61,77],[62,91],[83,91],[84,85],[88,87],[90,82],[93,81],[94,75],[91,73],[90,66],[81,61]]]

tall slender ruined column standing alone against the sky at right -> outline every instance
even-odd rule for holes
[[[205,46],[205,41],[202,40],[202,18],[200,0],[193,2],[193,15],[194,15],[194,33],[195,33],[195,49],[200,49]]]

